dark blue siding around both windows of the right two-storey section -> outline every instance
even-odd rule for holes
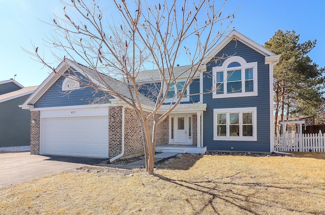
[[[231,56],[241,56],[246,62],[257,61],[257,96],[233,97],[233,98],[212,98],[212,94],[203,95],[203,103],[207,103],[207,110],[204,112],[204,146],[208,150],[219,151],[252,151],[252,152],[269,152],[270,151],[270,80],[269,65],[265,64],[265,56],[247,47],[239,41],[231,41],[216,56],[222,54]],[[203,89],[212,87],[212,68],[220,66],[223,60],[207,63],[207,71],[203,80]],[[273,104],[272,104],[273,105]],[[257,141],[223,141],[213,140],[213,109],[227,108],[257,108]],[[231,149],[233,147],[234,149]]]

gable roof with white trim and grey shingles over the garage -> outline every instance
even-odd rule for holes
[[[88,68],[80,63],[75,61],[64,59],[55,69],[54,71],[43,81],[43,83],[39,86],[34,93],[21,105],[23,109],[32,109],[34,108],[34,104],[38,101],[39,98],[64,74],[70,67],[72,67],[76,72],[82,74],[87,77],[93,83],[98,85],[100,88],[105,89],[105,83],[109,83],[113,89],[115,89],[120,95],[122,95],[126,99],[130,99],[131,94],[128,91],[127,85],[121,81],[118,81],[114,78],[111,78],[105,74],[98,73],[97,71]],[[114,96],[113,96],[114,97]],[[116,97],[115,97],[116,98]],[[139,98],[143,104],[153,106],[154,102],[151,101],[143,94],[139,94]]]

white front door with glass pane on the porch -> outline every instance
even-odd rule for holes
[[[191,129],[191,123],[186,115],[174,116],[174,144],[191,144],[188,130]]]

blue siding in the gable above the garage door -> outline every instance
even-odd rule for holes
[[[71,106],[94,103],[94,99],[103,97],[105,93],[96,92],[90,87],[73,90],[70,93],[62,91],[64,77],[60,77],[34,104],[35,108],[47,108],[52,106]],[[109,96],[113,98],[112,96]]]

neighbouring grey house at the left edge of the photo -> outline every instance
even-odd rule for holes
[[[23,87],[13,79],[0,81],[0,148],[28,146],[30,113],[22,104],[36,87]]]

